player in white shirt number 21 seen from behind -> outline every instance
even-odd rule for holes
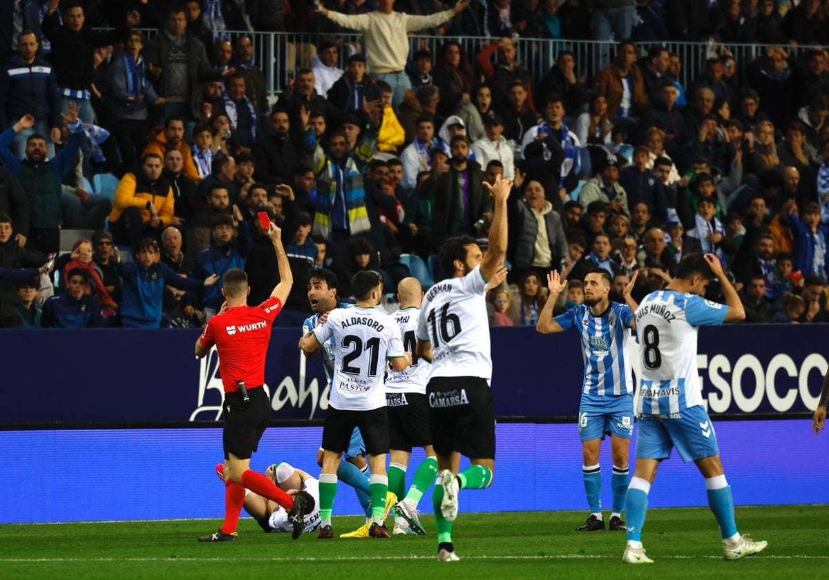
[[[354,428],[360,428],[371,467],[369,488],[373,521],[370,538],[389,538],[385,529],[385,495],[389,478],[385,456],[389,452],[389,420],[385,408],[385,361],[394,370],[411,364],[400,340],[395,319],[376,306],[383,297],[379,273],[364,270],[351,278],[356,298],[353,308],[337,308],[313,333],[303,336],[299,348],[313,354],[330,338],[335,341],[334,377],[325,425],[322,428],[322,473],[319,476],[320,531],[318,539],[334,537],[331,514],[337,495],[337,467],[348,448]]]

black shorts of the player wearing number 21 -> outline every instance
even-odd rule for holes
[[[322,448],[335,453],[347,452],[355,427],[360,429],[366,453],[383,455],[389,452],[389,417],[385,407],[345,411],[328,405],[322,426]]]

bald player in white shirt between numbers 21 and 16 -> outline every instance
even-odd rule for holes
[[[400,326],[400,336],[407,352],[414,352],[423,287],[417,278],[403,278],[397,285],[400,309],[391,317]],[[425,534],[417,506],[438,475],[438,459],[434,457],[432,433],[429,431],[429,401],[426,383],[431,365],[412,356],[411,366],[402,371],[390,370],[385,380],[385,404],[389,408],[389,491],[400,501],[395,505],[395,529],[392,534]],[[406,493],[406,468],[412,447],[423,447],[426,459],[414,474],[414,482]],[[405,495],[405,497],[404,497]]]

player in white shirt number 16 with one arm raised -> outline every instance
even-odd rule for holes
[[[432,497],[441,562],[459,559],[452,544],[458,491],[489,487],[495,471],[495,405],[489,390],[492,358],[484,296],[487,281],[497,274],[507,253],[512,181],[498,176],[494,185],[483,185],[494,202],[487,253],[468,236],[444,242],[440,265],[451,278],[426,292],[417,328],[417,355],[432,363],[426,394],[432,444],[443,470]],[[460,474],[458,453],[472,462]]]

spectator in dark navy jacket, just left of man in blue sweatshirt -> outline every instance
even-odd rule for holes
[[[101,303],[90,288],[89,272],[75,268],[66,273],[66,292],[46,300],[41,312],[44,328],[94,328],[106,325]]]

